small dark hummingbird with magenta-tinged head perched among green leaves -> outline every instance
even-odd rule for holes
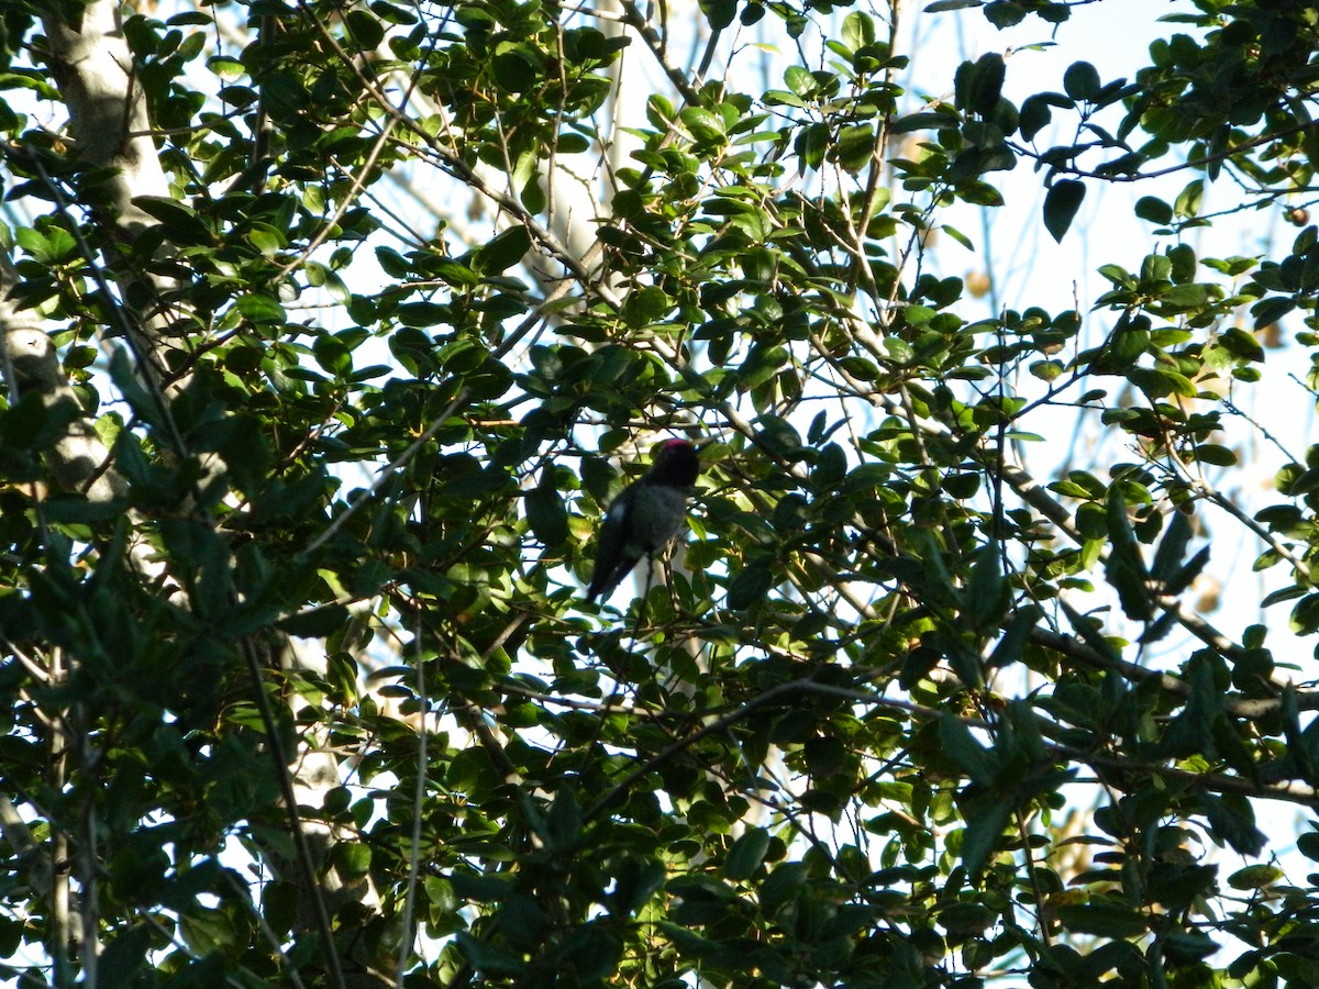
[[[642,556],[654,556],[678,538],[699,472],[696,447],[687,440],[666,439],[656,447],[650,469],[624,488],[604,513],[586,600],[608,596]]]

